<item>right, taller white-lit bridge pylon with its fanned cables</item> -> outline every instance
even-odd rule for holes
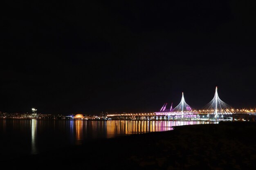
[[[234,109],[231,108],[228,104],[223,102],[218,96],[218,88],[216,86],[215,95],[211,102],[209,102],[205,107],[202,113],[215,114],[216,120],[218,114],[231,114],[234,113]]]

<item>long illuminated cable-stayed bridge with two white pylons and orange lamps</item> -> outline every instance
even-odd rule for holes
[[[218,88],[216,87],[215,95],[211,102],[204,106],[201,110],[195,110],[185,102],[184,93],[180,103],[173,108],[166,108],[165,103],[158,112],[152,113],[121,113],[110,114],[108,117],[114,119],[133,119],[133,120],[205,120],[205,121],[225,121],[225,120],[249,120],[255,121],[256,109],[235,109],[223,102],[218,96]],[[252,116],[250,116],[252,115]]]

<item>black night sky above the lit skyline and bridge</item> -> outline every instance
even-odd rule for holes
[[[0,111],[158,111],[214,96],[256,108],[256,3],[14,1],[2,5]]]

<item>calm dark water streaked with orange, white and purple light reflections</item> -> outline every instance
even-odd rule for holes
[[[86,141],[146,132],[173,130],[172,126],[209,124],[207,121],[40,120],[0,119],[0,158],[37,154]],[[218,122],[215,122],[218,123]]]

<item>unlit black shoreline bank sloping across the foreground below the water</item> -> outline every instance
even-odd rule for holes
[[[1,170],[251,170],[255,135],[255,122],[176,126],[1,161]]]

